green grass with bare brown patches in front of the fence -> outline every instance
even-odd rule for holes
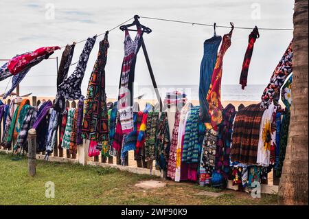
[[[165,187],[142,189],[139,181],[156,176],[69,163],[37,161],[36,176],[27,175],[27,159],[0,154],[0,205],[276,205],[277,196],[251,198],[244,192],[165,181]],[[55,198],[45,198],[45,183],[55,184]],[[196,196],[198,192],[221,195]]]

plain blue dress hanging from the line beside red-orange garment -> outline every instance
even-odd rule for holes
[[[208,102],[207,93],[211,83],[212,73],[214,72],[214,67],[217,60],[217,52],[220,42],[222,40],[221,36],[213,36],[204,42],[204,56],[201,62],[200,71],[200,86],[198,88],[198,97],[200,100],[200,115],[201,121],[210,121],[208,115]]]

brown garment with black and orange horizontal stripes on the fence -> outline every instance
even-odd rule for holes
[[[256,164],[260,124],[264,108],[251,104],[236,114],[233,125],[231,161]]]

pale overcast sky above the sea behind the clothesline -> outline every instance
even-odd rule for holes
[[[25,51],[43,46],[64,46],[95,34],[104,33],[119,23],[133,17],[151,16],[161,19],[229,25],[237,27],[293,28],[292,0],[130,0],[130,1],[0,1],[0,59],[12,58]],[[200,65],[203,58],[203,43],[214,34],[212,27],[170,23],[140,19],[152,29],[144,35],[144,41],[157,84],[199,83]],[[227,34],[229,29],[217,28],[218,35]],[[244,53],[251,30],[234,30],[231,47],[223,60],[222,84],[238,84]],[[136,32],[131,33],[135,37]],[[86,86],[98,55],[99,42],[91,51],[82,85]],[[255,43],[248,84],[268,84],[268,81],[286,47],[293,38],[293,31],[260,30]],[[110,48],[106,65],[106,84],[119,83],[124,57],[124,32],[116,28],[108,35]],[[84,43],[76,45],[73,61],[76,62]],[[60,57],[56,51],[52,57]],[[4,62],[0,62],[3,65]],[[71,67],[69,74],[73,72]],[[137,57],[135,82],[151,84],[142,50]],[[0,82],[5,87],[8,79]],[[21,86],[55,86],[56,60],[43,60],[25,77]]]

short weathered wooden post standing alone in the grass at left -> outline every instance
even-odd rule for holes
[[[28,131],[28,174],[36,174],[36,130],[31,128]]]

